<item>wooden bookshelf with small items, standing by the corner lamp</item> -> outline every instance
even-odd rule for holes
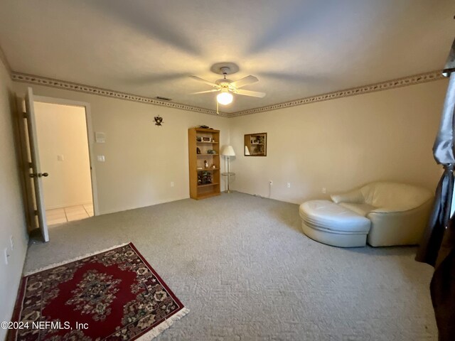
[[[206,141],[208,139],[210,141]],[[208,153],[209,150],[215,151],[215,154]],[[188,129],[188,161],[190,197],[200,200],[220,195],[220,131],[203,128]],[[208,168],[205,168],[205,161],[208,163]]]

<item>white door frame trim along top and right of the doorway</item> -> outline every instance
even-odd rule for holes
[[[49,104],[61,104],[70,105],[74,107],[85,108],[85,124],[87,125],[87,141],[88,141],[88,155],[90,161],[90,176],[92,178],[92,202],[93,202],[93,215],[99,214],[98,208],[98,189],[97,189],[97,172],[95,169],[96,158],[93,146],[95,144],[95,134],[92,127],[92,114],[90,112],[90,103],[73,101],[73,99],[64,99],[47,96],[33,96],[33,102],[49,103]]]

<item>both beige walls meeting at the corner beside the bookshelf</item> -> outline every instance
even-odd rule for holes
[[[27,86],[14,82],[18,94]],[[433,190],[441,173],[432,144],[446,80],[232,119],[51,87],[33,90],[90,103],[93,129],[107,137],[94,147],[106,158],[95,163],[100,213],[188,197],[187,129],[199,124],[220,129],[221,143],[234,146],[233,189],[268,197],[273,180],[270,194],[278,200],[328,197],[372,180]],[[156,114],[164,117],[161,127],[154,125]],[[243,156],[243,135],[263,131],[267,157]]]

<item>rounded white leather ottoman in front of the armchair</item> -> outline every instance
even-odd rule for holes
[[[328,200],[299,207],[301,229],[311,239],[334,247],[365,247],[370,220]]]

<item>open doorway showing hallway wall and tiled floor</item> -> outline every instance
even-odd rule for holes
[[[36,96],[36,136],[49,227],[95,215],[88,104]]]

